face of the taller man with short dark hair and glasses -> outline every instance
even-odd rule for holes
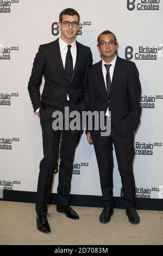
[[[73,21],[76,21],[78,23],[78,16],[77,15],[73,15],[73,16],[69,16],[69,15],[62,15],[62,22],[64,21],[70,21],[70,22],[73,22]],[[60,29],[60,32],[61,32],[61,39],[64,40],[64,41],[73,41],[76,39],[76,34],[77,34],[77,31],[78,31],[78,27],[77,26],[76,28],[74,28],[72,26],[72,23],[70,24],[70,26],[68,27],[65,27],[64,26],[64,23],[60,23],[58,22],[58,27]]]

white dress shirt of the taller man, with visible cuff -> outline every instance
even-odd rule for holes
[[[59,47],[60,47],[60,53],[61,53],[61,58],[62,58],[62,63],[65,68],[65,62],[66,62],[66,54],[67,54],[67,44],[64,40],[59,38]],[[73,60],[73,69],[76,64],[76,58],[77,58],[77,44],[76,40],[71,44],[71,55],[72,55],[72,60]],[[67,94],[67,100],[69,100],[68,94]],[[40,108],[36,109],[36,113],[39,112]]]

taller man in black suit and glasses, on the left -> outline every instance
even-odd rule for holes
[[[36,213],[37,229],[44,233],[51,231],[47,220],[47,204],[51,201],[54,170],[58,168],[60,138],[57,211],[64,212],[68,218],[79,218],[69,206],[69,199],[74,153],[82,130],[52,129],[54,111],[61,111],[64,115],[65,107],[69,107],[70,112],[87,109],[87,73],[92,65],[92,53],[89,47],[76,41],[79,20],[79,14],[74,9],[68,8],[60,13],[60,38],[40,45],[28,83],[34,112],[39,115],[42,127],[44,157],[40,162]],[[40,96],[42,76],[45,85]],[[65,118],[64,115],[64,121]]]

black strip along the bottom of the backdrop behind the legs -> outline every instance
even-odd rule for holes
[[[22,203],[35,203],[36,192],[29,191],[3,191],[2,201],[22,202]],[[123,199],[115,197],[115,208],[124,209]],[[52,194],[52,199],[49,204],[57,204],[57,194]],[[70,195],[70,205],[75,206],[88,206],[88,207],[101,207],[103,208],[102,196],[86,196],[80,194]],[[137,198],[136,209],[138,210],[156,210],[163,211],[163,200],[155,198]]]

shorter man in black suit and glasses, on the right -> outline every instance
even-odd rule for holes
[[[134,62],[117,56],[116,36],[104,31],[98,36],[98,51],[102,60],[93,65],[89,72],[90,110],[104,111],[110,119],[111,133],[102,136],[101,130],[87,132],[87,140],[93,143],[99,168],[104,209],[99,221],[108,223],[114,213],[113,157],[114,143],[118,169],[123,189],[126,215],[133,224],[140,222],[135,210],[135,180],[133,173],[134,134],[140,123],[141,85],[139,72]]]

